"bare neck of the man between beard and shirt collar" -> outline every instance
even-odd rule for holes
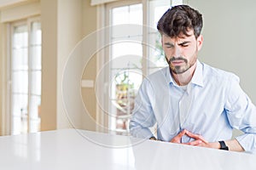
[[[196,63],[195,65],[191,66],[188,71],[185,71],[182,74],[175,74],[171,71],[172,78],[174,79],[178,86],[185,86],[189,84],[189,82],[191,81],[195,72],[195,67]]]

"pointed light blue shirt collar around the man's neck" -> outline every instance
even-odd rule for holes
[[[172,85],[176,85],[176,83],[174,82],[174,80],[172,78],[172,75],[170,74],[169,66],[166,67],[166,80],[169,84],[172,83]],[[195,85],[198,85],[198,86],[201,86],[201,87],[204,86],[204,83],[203,83],[203,66],[202,66],[201,62],[198,59],[196,61],[196,68],[195,68],[194,76],[192,77],[191,83],[195,84]]]

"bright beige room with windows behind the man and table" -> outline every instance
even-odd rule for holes
[[[178,4],[203,14],[200,61],[235,73],[256,105],[256,1],[0,0],[0,136],[130,136],[143,78],[167,65],[157,22]]]

